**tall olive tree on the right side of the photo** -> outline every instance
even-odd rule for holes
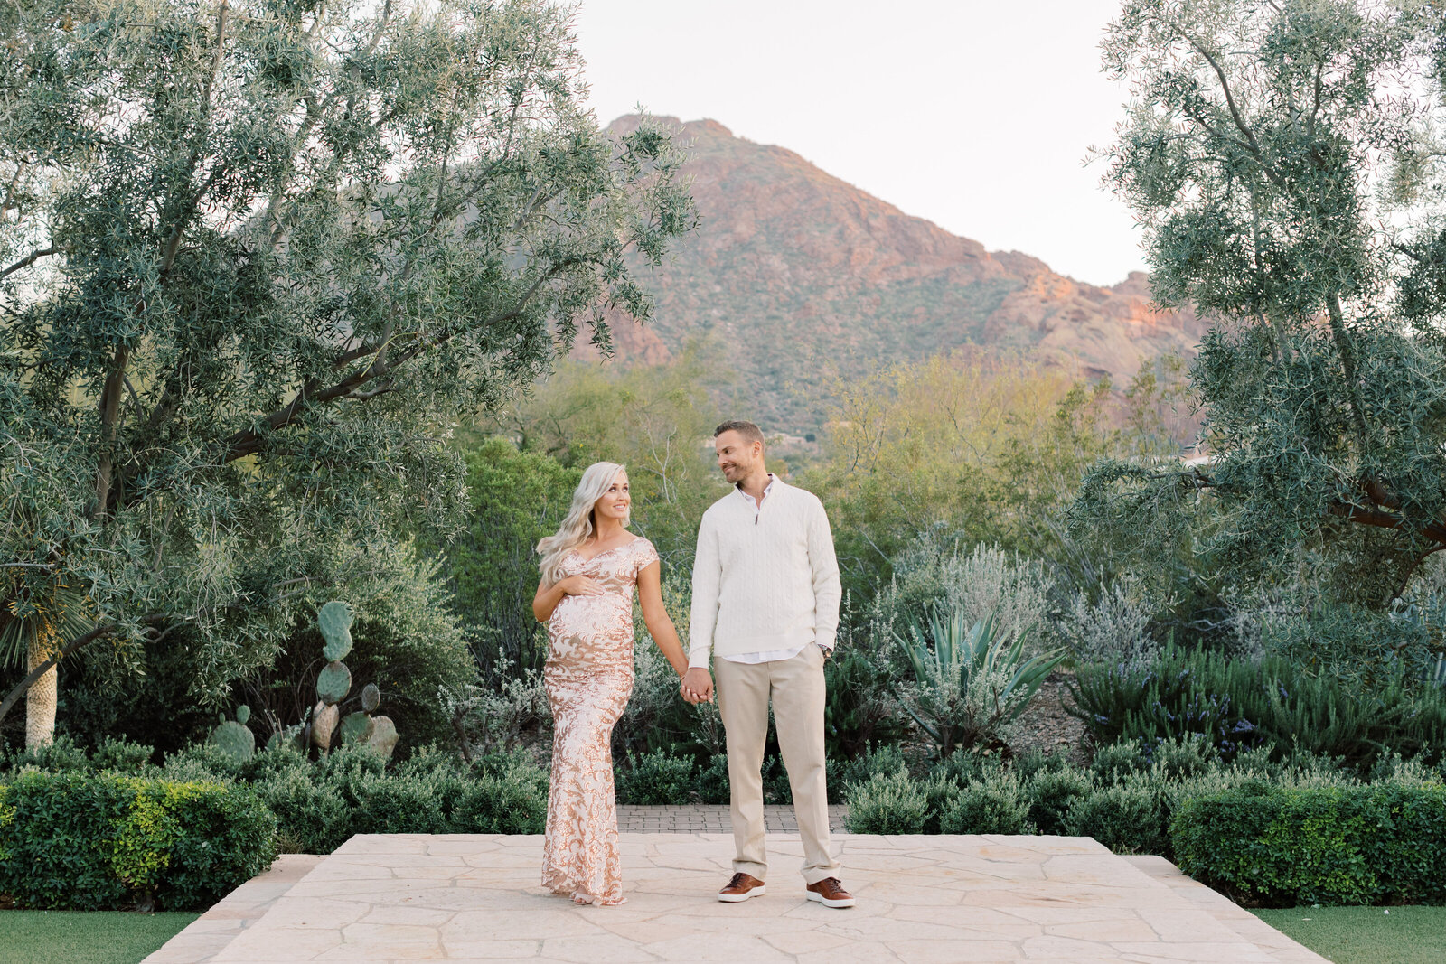
[[[1194,546],[1242,585],[1379,611],[1446,548],[1442,14],[1358,0],[1129,0],[1106,181],[1157,296],[1215,318],[1209,464],[1106,462],[1076,529]],[[1173,551],[1173,549],[1171,549]]]

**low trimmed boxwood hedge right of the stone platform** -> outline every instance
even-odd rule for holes
[[[1184,801],[1176,863],[1239,903],[1446,902],[1446,786],[1284,788]]]

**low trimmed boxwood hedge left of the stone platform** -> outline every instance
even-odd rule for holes
[[[20,772],[0,782],[0,893],[22,908],[207,908],[270,866],[275,835],[240,786]]]

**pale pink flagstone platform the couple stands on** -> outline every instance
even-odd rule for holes
[[[732,835],[622,834],[629,903],[578,908],[538,886],[541,837],[359,835],[282,893],[265,874],[239,889],[230,925],[211,918],[200,932],[211,945],[191,935],[188,950],[187,928],[146,960],[1325,960],[1168,861],[1116,857],[1089,838],[840,834],[843,880],[859,898],[844,911],[804,899],[797,835],[768,843],[768,895],[724,905],[714,892],[730,872]],[[283,861],[285,873],[302,869]],[[262,886],[270,890],[243,893]]]

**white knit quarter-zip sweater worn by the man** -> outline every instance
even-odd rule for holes
[[[818,497],[775,478],[755,509],[735,489],[698,526],[688,665],[707,666],[710,652],[831,647],[842,600],[833,532]]]

